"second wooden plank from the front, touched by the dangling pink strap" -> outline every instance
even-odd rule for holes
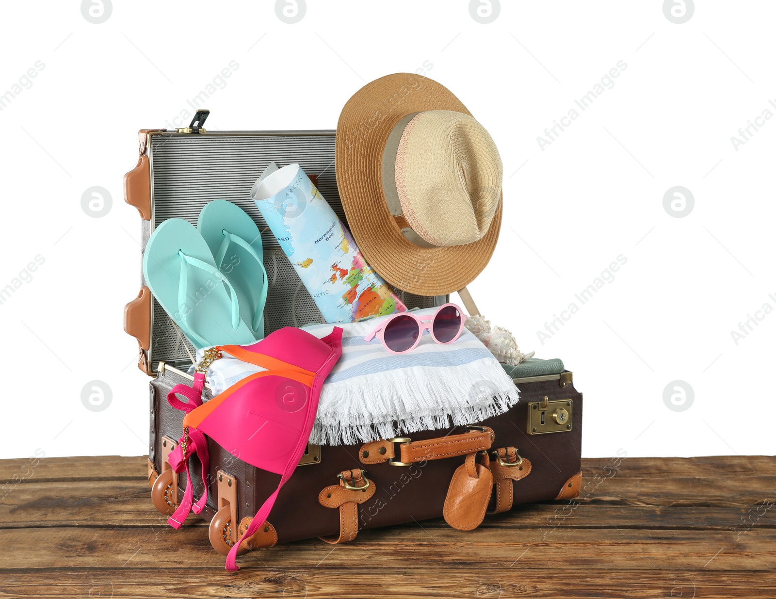
[[[643,529],[558,528],[515,532],[508,528],[456,531],[422,528],[408,535],[402,528],[362,531],[352,543],[334,548],[320,541],[278,545],[244,556],[241,563],[258,567],[395,571],[397,564],[424,563],[429,568],[499,568],[519,559],[521,567],[599,570],[616,564],[622,570],[772,571],[776,530],[752,529],[736,540],[729,531],[650,531]],[[29,528],[0,530],[0,569],[39,567],[187,569],[223,566],[223,556],[210,547],[202,528]],[[331,556],[331,557],[330,557]],[[0,570],[2,571],[2,570]]]

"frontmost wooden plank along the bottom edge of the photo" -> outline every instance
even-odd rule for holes
[[[0,597],[532,597],[533,599],[622,599],[622,597],[772,597],[776,573],[657,570],[645,576],[622,570],[554,571],[509,567],[435,571],[404,563],[394,572],[354,574],[352,570],[295,570],[244,567],[239,573],[196,567],[180,570],[97,569],[15,570],[3,573]]]

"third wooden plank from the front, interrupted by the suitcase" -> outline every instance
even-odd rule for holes
[[[565,525],[601,526],[607,519],[626,527],[676,528],[707,526],[731,528],[744,522],[770,526],[776,520],[763,518],[767,503],[776,501],[770,477],[729,479],[641,480],[628,477],[589,480],[583,497],[516,507],[511,514],[486,518],[484,526]],[[587,497],[584,495],[587,494]],[[579,511],[582,507],[607,508]],[[631,511],[622,511],[622,508]],[[668,507],[686,507],[671,511]],[[618,509],[619,508],[619,509]],[[759,517],[758,517],[759,516]],[[663,521],[663,518],[667,518]],[[164,521],[151,504],[146,480],[66,480],[39,483],[35,480],[14,487],[0,501],[0,528],[59,525],[158,525]],[[580,523],[581,521],[581,523]],[[26,524],[24,524],[26,523]],[[573,523],[573,524],[572,524]],[[669,525],[670,523],[670,525]]]

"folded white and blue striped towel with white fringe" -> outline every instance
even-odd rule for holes
[[[431,308],[415,313],[434,312]],[[438,345],[424,334],[417,348],[396,355],[386,351],[377,338],[364,341],[385,318],[336,325],[344,330],[342,356],[321,390],[310,443],[352,445],[473,424],[518,403],[512,379],[466,329],[450,345]],[[334,326],[314,324],[303,329],[321,338]],[[198,351],[198,359],[202,353]],[[217,395],[260,370],[224,354],[210,366],[207,381]]]

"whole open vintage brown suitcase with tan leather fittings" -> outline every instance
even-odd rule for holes
[[[196,223],[207,202],[228,199],[262,230],[270,282],[265,333],[322,321],[248,190],[270,161],[298,162],[317,178],[317,187],[345,221],[334,176],[334,131],[211,133],[202,128],[204,118],[206,111],[198,113],[184,130],[140,131],[140,159],[126,175],[125,195],[142,217],[143,244],[163,220],[179,217]],[[439,306],[448,300],[397,293],[408,307]],[[137,299],[126,306],[125,329],[137,338],[140,369],[154,376],[148,482],[154,505],[162,514],[171,514],[191,482],[185,474],[174,473],[168,462],[181,437],[183,413],[170,407],[166,397],[176,384],[191,384],[188,371],[195,352],[142,281]],[[581,486],[582,395],[573,387],[572,373],[514,383],[521,394],[517,405],[468,428],[421,431],[369,444],[308,445],[268,521],[245,545],[252,549],[316,536],[341,542],[355,538],[359,528],[447,515],[451,480],[465,461],[471,467],[475,461],[490,462],[490,513],[531,501],[576,497]],[[208,386],[205,393],[210,394]],[[477,393],[487,393],[487,383]],[[210,488],[200,517],[210,521],[213,548],[227,553],[275,490],[279,475],[241,462],[212,440],[209,450]],[[202,473],[198,460],[190,462],[197,497],[203,491]],[[456,528],[467,528],[466,522]]]

